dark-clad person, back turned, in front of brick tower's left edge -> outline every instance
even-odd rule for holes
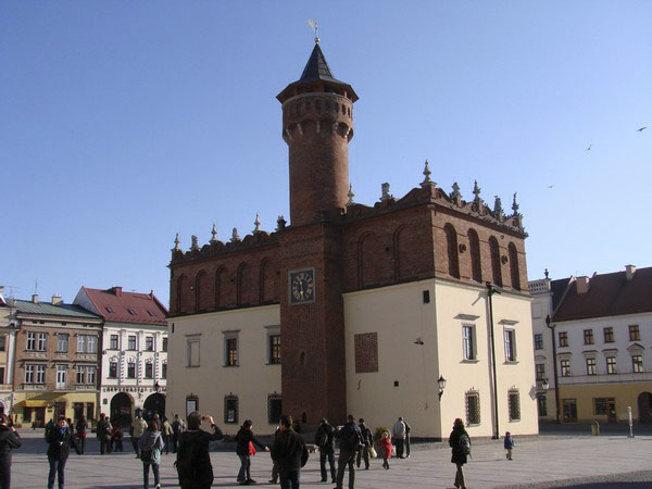
[[[280,432],[272,448],[272,460],[278,463],[281,489],[299,489],[299,474],[308,462],[303,437],[292,429],[292,416],[280,417]]]

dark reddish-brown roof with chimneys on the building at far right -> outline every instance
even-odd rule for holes
[[[637,269],[631,280],[627,280],[625,272],[594,275],[586,293],[577,293],[577,281],[574,281],[553,321],[645,312],[652,312],[652,267]]]

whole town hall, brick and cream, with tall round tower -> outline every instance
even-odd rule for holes
[[[278,96],[290,220],[228,242],[172,250],[167,415],[199,410],[235,431],[398,416],[413,436],[536,434],[522,215],[423,179],[353,201],[348,146],[358,95],[315,45]],[[417,183],[415,178],[415,183]],[[229,428],[229,425],[233,425]]]

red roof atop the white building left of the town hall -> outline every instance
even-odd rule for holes
[[[104,321],[115,323],[167,324],[167,310],[153,292],[124,292],[122,287],[108,290],[83,287]]]

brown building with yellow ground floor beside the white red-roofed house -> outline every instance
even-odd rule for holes
[[[35,294],[12,306],[17,327],[15,423],[42,426],[59,415],[96,418],[102,318],[59,297],[39,302]]]

